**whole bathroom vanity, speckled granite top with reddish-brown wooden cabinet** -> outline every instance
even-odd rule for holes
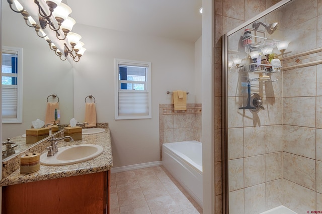
[[[47,140],[40,142],[38,151],[35,145],[24,153],[45,153],[49,144]],[[3,163],[2,213],[109,213],[109,178],[113,166],[110,131],[106,128],[99,134],[83,135],[79,141],[62,140],[58,147],[76,144],[97,144],[104,151],[81,163],[40,165],[39,171],[30,174],[20,174],[20,167],[15,171],[8,169],[8,166],[17,167],[17,163]]]

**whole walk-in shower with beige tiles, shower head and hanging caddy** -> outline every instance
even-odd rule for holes
[[[284,0],[224,35],[226,213],[322,212],[321,24]]]

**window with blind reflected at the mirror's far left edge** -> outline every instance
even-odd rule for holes
[[[22,48],[2,51],[2,123],[22,123]]]

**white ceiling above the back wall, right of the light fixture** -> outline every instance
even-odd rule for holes
[[[76,23],[195,42],[202,0],[65,0]],[[75,32],[77,33],[77,32]]]

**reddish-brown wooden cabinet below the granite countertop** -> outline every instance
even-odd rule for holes
[[[2,187],[2,213],[109,213],[110,171]]]

